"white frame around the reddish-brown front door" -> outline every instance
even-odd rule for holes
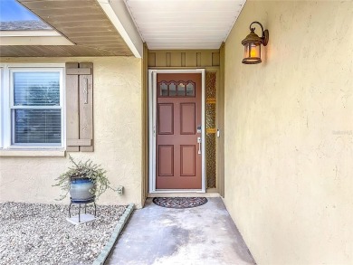
[[[156,126],[157,126],[157,73],[201,73],[201,189],[156,189]],[[149,138],[149,193],[205,193],[205,69],[148,70],[148,138]]]

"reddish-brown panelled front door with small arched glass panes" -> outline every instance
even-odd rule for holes
[[[201,189],[201,73],[157,73],[157,189]]]

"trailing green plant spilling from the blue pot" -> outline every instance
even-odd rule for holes
[[[91,159],[88,159],[86,162],[75,162],[70,155],[69,159],[73,166],[55,178],[56,184],[53,185],[59,186],[64,192],[58,200],[63,200],[69,194],[71,180],[78,178],[89,178],[91,180],[94,185],[90,193],[95,194],[97,199],[107,189],[117,192],[117,189],[110,186],[110,181],[106,176],[107,171],[100,165],[94,164]]]

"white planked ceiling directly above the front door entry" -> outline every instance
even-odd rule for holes
[[[246,0],[124,0],[150,50],[219,49]]]

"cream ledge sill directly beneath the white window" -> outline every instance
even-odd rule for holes
[[[63,149],[0,149],[0,156],[23,157],[63,157]]]

